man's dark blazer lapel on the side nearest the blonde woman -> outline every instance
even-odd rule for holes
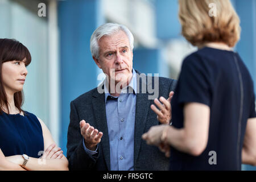
[[[139,84],[139,85],[138,85]],[[143,87],[144,86],[144,87]],[[147,90],[147,81],[145,79],[137,78],[137,101],[136,101],[136,114],[135,114],[135,130],[134,130],[134,165],[138,159],[139,148],[141,147],[142,134],[147,120],[148,108],[150,101],[148,93],[144,93],[142,88]]]

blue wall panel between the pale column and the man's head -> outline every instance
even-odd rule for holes
[[[97,65],[90,36],[102,23],[100,1],[59,1],[61,128],[60,147],[66,155],[70,102],[97,86]]]

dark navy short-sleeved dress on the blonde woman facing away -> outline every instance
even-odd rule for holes
[[[210,107],[207,147],[199,156],[172,148],[170,169],[241,170],[246,122],[256,114],[253,80],[238,53],[205,47],[187,56],[171,103],[174,127],[183,127],[188,102]]]

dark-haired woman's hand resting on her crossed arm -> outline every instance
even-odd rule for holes
[[[63,158],[63,151],[60,147],[56,147],[55,143],[52,143],[44,154],[41,156],[41,159],[61,159]]]

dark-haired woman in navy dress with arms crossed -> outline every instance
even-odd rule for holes
[[[21,109],[30,62],[22,43],[0,39],[0,170],[68,170],[47,126]]]

